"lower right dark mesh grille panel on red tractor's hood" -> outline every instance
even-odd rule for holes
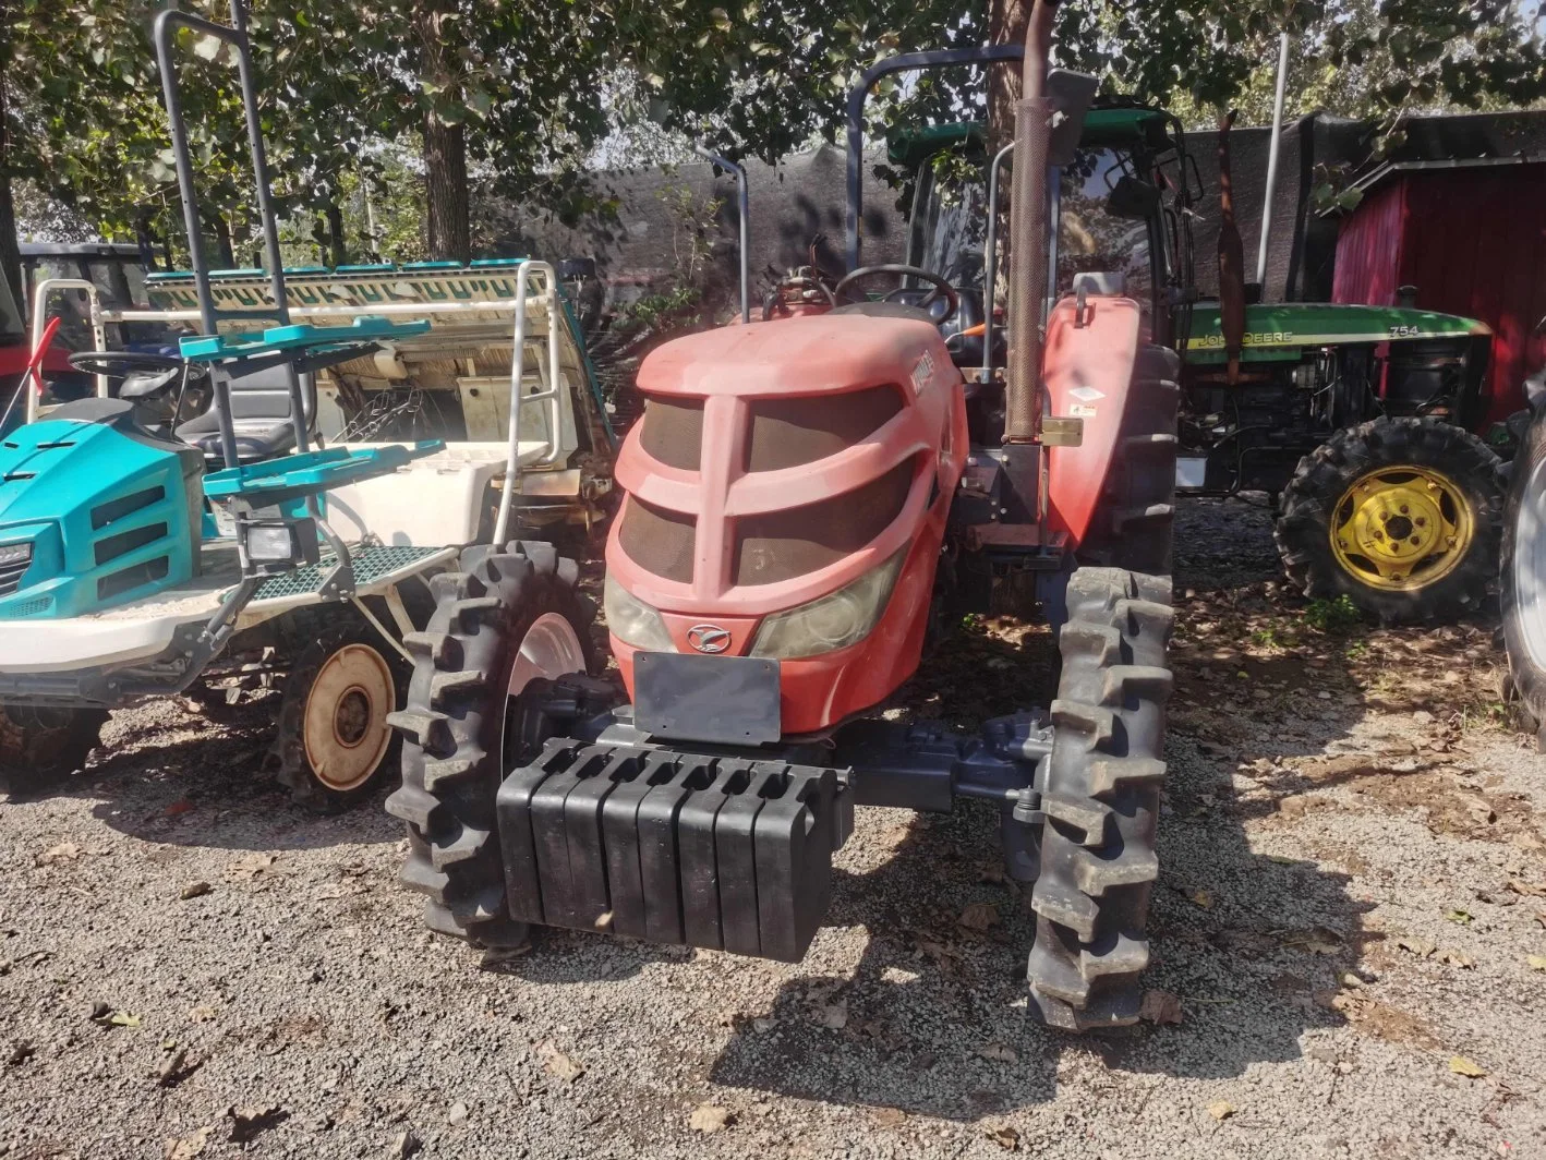
[[[901,515],[914,472],[917,461],[906,459],[853,492],[741,520],[736,527],[736,583],[792,580],[864,548]]]

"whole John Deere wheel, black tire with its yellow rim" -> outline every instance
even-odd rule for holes
[[[1487,599],[1503,464],[1439,419],[1373,419],[1299,462],[1275,527],[1309,599],[1347,597],[1382,623],[1455,619]]]

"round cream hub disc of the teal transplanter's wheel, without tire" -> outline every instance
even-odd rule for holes
[[[306,698],[306,761],[331,790],[359,789],[391,744],[386,715],[396,687],[391,670],[369,645],[345,645],[317,673]]]

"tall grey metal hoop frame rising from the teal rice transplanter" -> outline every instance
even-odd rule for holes
[[[155,42],[156,63],[161,68],[161,88],[167,102],[167,122],[172,130],[172,153],[178,170],[178,193],[182,196],[182,223],[187,229],[189,258],[193,266],[193,285],[198,292],[199,320],[206,334],[218,334],[220,311],[209,285],[209,263],[204,261],[203,226],[198,212],[198,189],[193,183],[193,158],[189,152],[187,121],[182,114],[182,96],[178,91],[175,40],[178,29],[187,28],[203,36],[230,45],[237,51],[237,74],[241,87],[241,105],[247,121],[247,144],[252,152],[254,186],[258,195],[258,218],[263,223],[263,249],[269,263],[269,286],[274,292],[274,316],[281,326],[291,320],[284,294],[284,263],[280,257],[280,232],[274,217],[274,198],[269,187],[269,161],[263,147],[263,125],[258,119],[258,94],[252,79],[252,46],[247,40],[247,14],[241,0],[230,0],[230,26],[216,25],[192,12],[167,8],[156,17]],[[286,367],[291,396],[291,422],[295,427],[295,452],[311,450],[308,433],[306,401],[300,387],[300,374],[294,365]],[[220,444],[227,467],[237,467],[237,430],[230,415],[230,384],[221,374],[210,376],[220,404]]]

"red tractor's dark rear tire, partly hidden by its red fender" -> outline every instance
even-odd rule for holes
[[[1078,549],[1081,565],[1170,574],[1180,379],[1181,359],[1169,346],[1138,350],[1116,456]]]

